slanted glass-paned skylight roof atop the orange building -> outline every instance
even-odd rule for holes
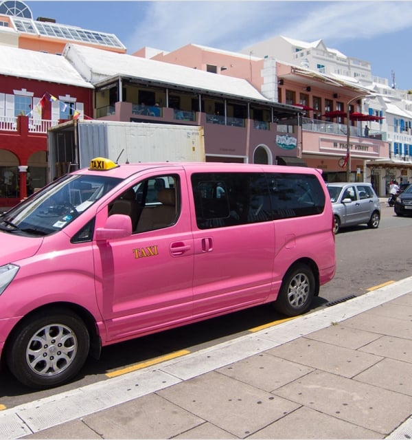
[[[83,43],[125,49],[124,45],[122,45],[121,41],[117,39],[115,34],[106,34],[104,32],[86,30],[76,26],[21,19],[18,17],[11,17],[10,19],[14,23],[16,30],[19,32],[24,32],[25,34],[38,34],[43,36],[51,36],[53,38],[82,41]]]

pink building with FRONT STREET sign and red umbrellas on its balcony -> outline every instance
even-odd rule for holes
[[[385,195],[385,184],[367,166],[368,160],[389,157],[385,133],[374,130],[365,135],[367,120],[361,115],[367,114],[362,99],[370,93],[367,89],[275,58],[258,58],[200,45],[185,45],[168,53],[144,48],[134,55],[217,76],[244,78],[269,100],[301,107],[297,155],[308,166],[321,168],[328,181],[345,181],[350,171],[351,180],[371,181],[378,194]],[[349,124],[347,111],[351,114]],[[348,126],[350,170],[346,165]]]

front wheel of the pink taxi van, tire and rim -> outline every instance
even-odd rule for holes
[[[89,331],[76,314],[45,309],[16,327],[5,356],[19,382],[45,389],[75,376],[87,359],[89,347]]]

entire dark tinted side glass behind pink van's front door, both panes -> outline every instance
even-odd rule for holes
[[[199,229],[320,214],[325,207],[314,175],[196,173],[192,190]]]

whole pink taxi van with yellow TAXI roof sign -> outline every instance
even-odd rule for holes
[[[273,303],[308,311],[335,272],[321,171],[96,158],[0,216],[0,355],[67,382],[101,347]]]

